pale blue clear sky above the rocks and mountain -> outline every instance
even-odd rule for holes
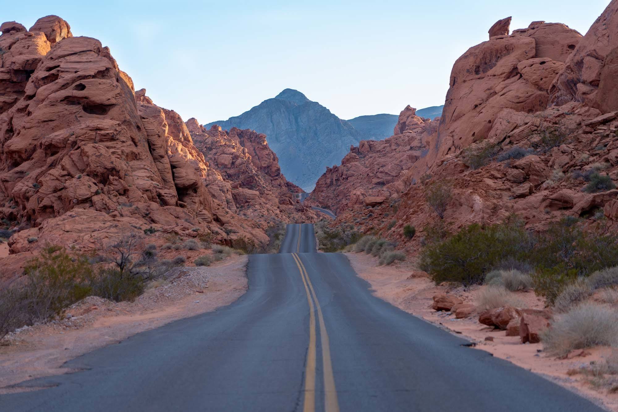
[[[342,119],[444,104],[455,60],[510,26],[561,22],[585,34],[609,0],[11,1],[2,21],[56,14],[109,46],[156,105],[200,123],[294,88]]]

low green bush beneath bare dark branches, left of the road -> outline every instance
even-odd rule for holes
[[[101,270],[90,283],[92,294],[116,302],[133,301],[143,293],[145,279],[117,268]]]

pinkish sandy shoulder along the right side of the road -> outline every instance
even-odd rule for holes
[[[455,319],[453,315],[447,315],[446,312],[436,312],[431,309],[434,294],[444,293],[447,288],[435,286],[424,272],[415,272],[411,264],[404,262],[397,266],[377,266],[378,259],[371,255],[363,253],[345,253],[345,255],[358,275],[370,283],[373,293],[378,298],[468,338],[476,344],[476,349],[487,351],[493,356],[506,359],[517,366],[540,374],[609,411],[618,412],[618,394],[597,392],[581,375],[567,375],[569,369],[578,369],[589,365],[591,361],[599,361],[608,356],[608,348],[588,350],[590,354],[585,358],[556,359],[546,356],[543,354],[541,344],[522,345],[519,337],[507,337],[504,331],[494,331],[478,323],[478,316]],[[449,293],[459,296],[465,302],[475,303],[479,290],[480,288],[464,291],[460,288],[449,290]],[[517,298],[525,307],[536,309],[543,307],[541,299],[532,292],[517,293]],[[493,341],[486,341],[486,337],[493,338]]]

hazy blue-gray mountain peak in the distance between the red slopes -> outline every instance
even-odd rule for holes
[[[279,157],[282,173],[305,191],[313,190],[326,166],[339,165],[350,145],[366,139],[352,124],[290,88],[240,116],[210,122],[205,127],[213,124],[266,134],[268,145]]]

